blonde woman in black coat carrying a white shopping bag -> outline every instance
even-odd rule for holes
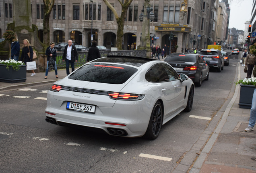
[[[27,54],[29,52],[30,52],[30,57]],[[23,58],[24,58],[24,61],[23,61]],[[22,52],[21,52],[21,61],[23,61],[25,64],[27,64],[27,62],[33,61],[33,48],[30,46],[29,40],[27,40],[27,39],[23,40],[23,48],[22,48]],[[35,76],[35,71],[34,70],[32,70],[31,76]]]

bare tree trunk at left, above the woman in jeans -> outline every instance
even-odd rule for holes
[[[54,6],[54,0],[43,0],[43,44],[50,44],[50,26],[49,19]]]

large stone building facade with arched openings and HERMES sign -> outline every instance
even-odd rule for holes
[[[120,15],[122,7],[118,0],[108,1]],[[140,45],[143,30],[138,17],[143,4],[144,0],[133,0],[128,9],[124,24],[124,50],[130,49],[132,43],[135,48]],[[217,13],[218,0],[151,0],[150,4],[155,14],[155,19],[150,22],[153,44],[161,47],[167,44],[181,52],[182,48],[207,48],[208,44],[216,41],[215,32],[221,26],[217,24],[217,18],[221,16]],[[12,0],[0,0],[1,35],[7,24],[12,22],[13,5]],[[38,27],[38,37],[43,41],[42,0],[31,0],[31,13],[32,23]],[[224,20],[222,24],[227,22],[226,18]],[[55,0],[50,16],[50,42],[71,39],[74,44],[89,47],[92,34],[98,45],[116,47],[117,27],[113,12],[103,0]],[[225,29],[222,32],[226,32]],[[169,41],[171,33],[174,34],[172,42]],[[225,36],[224,33],[222,35]]]

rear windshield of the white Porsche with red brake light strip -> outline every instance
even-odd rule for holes
[[[122,84],[138,69],[119,64],[91,63],[68,76],[69,79],[108,84]]]

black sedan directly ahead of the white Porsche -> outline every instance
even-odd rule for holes
[[[172,53],[164,60],[169,63],[179,74],[186,74],[200,87],[202,80],[209,79],[209,66],[202,56],[193,53]]]

